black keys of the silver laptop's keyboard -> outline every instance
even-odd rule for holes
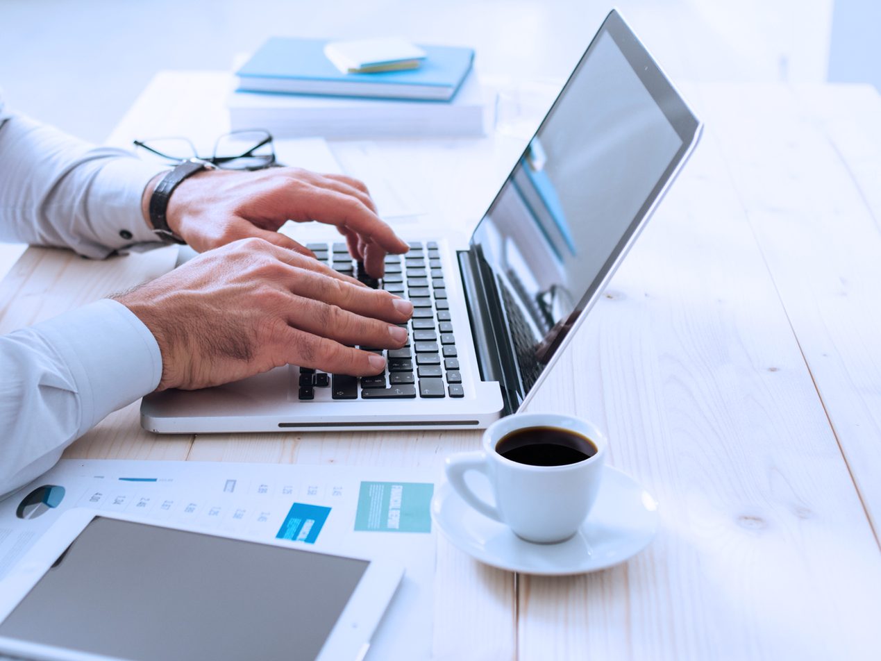
[[[409,299],[413,317],[401,324],[410,333],[403,348],[359,347],[386,357],[382,374],[359,378],[300,368],[300,400],[314,400],[316,390],[324,388],[329,388],[332,399],[465,396],[437,243],[413,242],[406,255],[386,256],[385,277],[379,280],[367,275],[364,264],[352,260],[345,243],[309,243],[307,248],[332,269]]]

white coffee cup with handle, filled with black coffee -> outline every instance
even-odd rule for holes
[[[448,457],[447,479],[481,514],[530,542],[571,538],[596,501],[606,453],[603,433],[558,413],[515,413],[486,429],[483,449]],[[494,502],[475,494],[468,472],[485,475]]]

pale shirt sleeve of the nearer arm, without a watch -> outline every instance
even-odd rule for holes
[[[47,471],[108,413],[155,390],[162,375],[152,333],[109,300],[3,336],[0,365],[0,494]]]

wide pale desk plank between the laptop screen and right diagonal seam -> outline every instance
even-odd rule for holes
[[[727,115],[699,107],[706,139],[531,406],[603,426],[662,524],[617,568],[522,576],[522,658],[881,647],[877,544],[718,146],[752,144],[736,116],[751,89]]]

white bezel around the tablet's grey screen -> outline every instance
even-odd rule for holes
[[[280,546],[305,553],[335,555],[348,560],[366,561],[367,568],[352,592],[343,612],[330,630],[316,661],[338,658],[360,659],[369,649],[370,640],[385,614],[391,599],[403,577],[403,566],[386,559],[366,558],[350,553],[315,550],[303,546],[292,547],[287,540],[264,540],[235,535],[228,532],[202,531],[167,522],[144,521],[135,516],[107,513],[94,509],[70,509],[59,516],[15,568],[0,581],[0,622],[12,613],[26,595],[46,574],[58,557],[78,538],[79,534],[96,516],[155,528],[196,532],[208,537],[237,539],[267,546]],[[121,657],[105,657],[90,652],[66,650],[37,642],[26,642],[0,635],[0,652],[21,655],[40,661],[131,661]]]

